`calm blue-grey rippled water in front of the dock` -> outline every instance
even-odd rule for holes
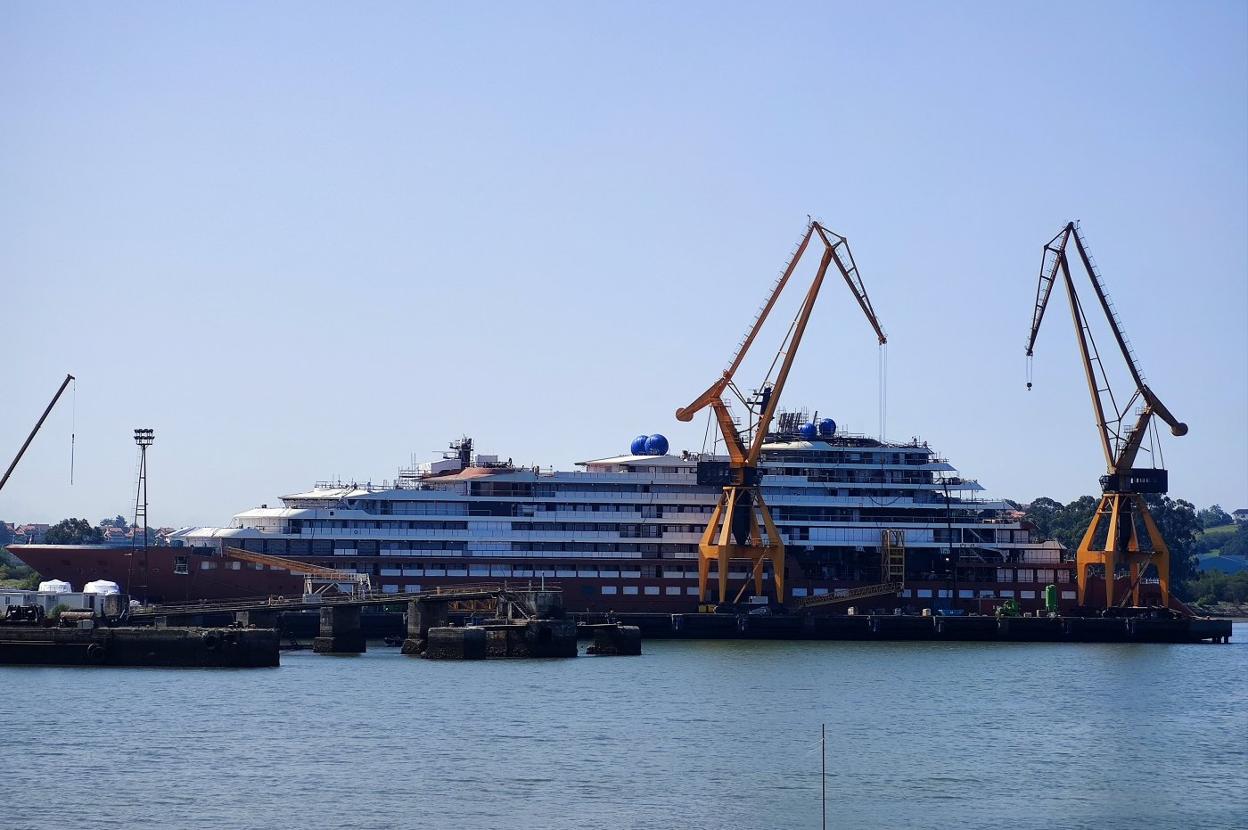
[[[5,668],[0,826],[1242,829],[1234,639]]]

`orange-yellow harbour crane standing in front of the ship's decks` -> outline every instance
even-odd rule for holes
[[[805,255],[812,238],[817,238],[824,246],[822,257],[819,261],[819,270],[815,273],[810,288],[801,302],[797,316],[794,318],[789,332],[785,334],[771,367],[763,383],[749,397],[738,388],[734,378],[745,353],[754,343],[768,315],[775,307],[780,293],[789,285],[797,262]],[[763,442],[768,437],[768,429],[780,402],[780,393],[784,391],[785,381],[789,378],[789,369],[792,359],[797,354],[801,337],[810,321],[810,312],[815,307],[815,298],[824,283],[827,268],[835,265],[845,278],[845,283],[854,293],[859,306],[866,315],[867,321],[875,330],[880,344],[887,342],[880,321],[871,307],[871,300],[866,295],[862,280],[859,276],[857,265],[850,252],[849,242],[845,237],[829,231],[819,222],[811,221],[801,237],[801,242],[794,251],[792,258],[785,266],[784,272],[776,281],[768,297],[766,303],[759,310],[758,317],[750,326],[745,339],[738,346],[728,368],[724,369],[714,383],[705,392],[694,399],[689,406],[676,409],[679,421],[691,421],[693,417],[708,406],[715,414],[719,431],[728,447],[728,462],[699,462],[698,483],[723,487],[715,509],[711,512],[710,522],[703,533],[698,545],[698,597],[699,602],[706,602],[706,580],[710,573],[710,563],[714,560],[719,570],[719,602],[728,602],[728,565],[731,559],[748,559],[753,565],[751,577],[754,579],[755,594],[763,594],[763,569],[770,560],[776,585],[776,599],[784,602],[784,540],[771,519],[771,512],[763,500],[759,476],[759,458],[763,454]],[[773,379],[774,377],[774,379]],[[739,428],[733,413],[729,409],[726,396],[731,394],[748,411],[749,416],[744,428]],[[744,590],[744,585],[743,585]]]

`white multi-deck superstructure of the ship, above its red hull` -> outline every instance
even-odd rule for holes
[[[443,577],[552,577],[583,580],[588,595],[623,574],[688,580],[696,573],[716,498],[714,487],[698,484],[698,464],[713,456],[630,453],[557,472],[474,456],[468,439],[452,449],[394,482],[322,483],[282,497],[281,507],[238,513],[227,528],[175,539],[357,569],[386,590]],[[1065,580],[1052,572],[1060,550],[1035,544],[1011,505],[983,498],[977,482],[958,477],[925,442],[776,434],[761,469],[795,595],[876,580],[884,529],[905,533],[911,580],[1013,582],[1018,564],[1047,565],[1041,575]],[[654,589],[686,598],[689,584]],[[941,589],[932,590],[938,598]]]

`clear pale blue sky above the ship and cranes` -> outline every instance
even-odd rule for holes
[[[5,463],[77,383],[0,518],[132,515],[135,427],[167,525],[461,434],[555,468],[639,433],[700,449],[674,411],[807,216],[887,331],[885,437],[1021,500],[1104,468],[1057,292],[1026,389],[1041,248],[1081,220],[1191,427],[1171,496],[1248,507],[1243,2],[10,0]],[[875,436],[880,363],[830,280],[782,404]]]

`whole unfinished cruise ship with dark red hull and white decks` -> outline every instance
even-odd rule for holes
[[[477,453],[463,438],[393,481],[322,482],[228,527],[178,530],[171,547],[11,550],[45,578],[111,579],[147,600],[302,590],[288,570],[226,554],[238,548],[367,574],[386,593],[545,582],[570,610],[690,612],[700,607],[698,543],[719,494],[698,483],[706,461],[725,458],[669,452],[663,436],[640,436],[626,452],[559,472]],[[754,595],[743,562],[730,568],[730,600],[812,603],[882,583],[885,532],[894,530],[904,539],[904,588],[860,607],[991,613],[1013,599],[1027,612],[1043,607],[1050,584],[1063,607],[1075,604],[1072,557],[1033,539],[1020,512],[985,498],[926,442],[849,434],[789,412],[768,436],[760,469],[784,537],[787,595],[776,598],[770,578]],[[709,590],[715,602],[714,577]]]

